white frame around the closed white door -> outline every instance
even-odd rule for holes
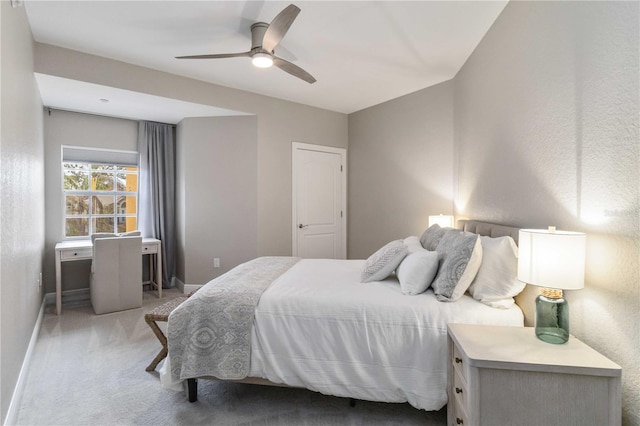
[[[296,151],[317,151],[317,152],[325,152],[330,154],[338,154],[340,155],[340,163],[342,166],[341,173],[341,185],[342,185],[342,221],[340,223],[340,233],[342,234],[342,241],[340,242],[340,246],[342,248],[342,258],[347,258],[347,150],[345,148],[336,148],[332,146],[324,146],[324,145],[314,145],[303,142],[292,142],[291,143],[291,170],[292,170],[292,186],[291,186],[291,248],[293,256],[298,255],[298,233],[297,233],[297,224],[298,224],[298,212],[297,212],[297,202],[298,196],[296,194],[296,188],[298,184],[297,172],[298,165],[296,164]]]

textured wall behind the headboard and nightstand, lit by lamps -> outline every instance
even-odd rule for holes
[[[511,2],[454,79],[456,214],[588,235],[572,334],[640,424],[639,3]]]

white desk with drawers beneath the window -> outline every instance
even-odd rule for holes
[[[155,283],[151,284],[158,289],[158,298],[162,297],[162,250],[161,242],[155,238],[142,239],[142,255],[154,254],[156,256]],[[65,241],[56,244],[56,312],[62,312],[62,262],[74,260],[87,260],[93,257],[93,245],[91,240]],[[152,268],[149,269],[151,274]]]

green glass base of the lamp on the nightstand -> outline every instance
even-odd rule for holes
[[[556,293],[545,292],[536,298],[536,336],[538,339],[561,345],[569,340],[569,304],[562,297],[561,290]],[[559,292],[559,296],[558,293]],[[547,297],[546,295],[553,297]]]

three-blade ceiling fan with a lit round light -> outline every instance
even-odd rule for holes
[[[176,56],[176,59],[221,59],[246,56],[251,58],[253,65],[256,67],[268,68],[271,65],[275,65],[281,70],[313,84],[316,79],[311,74],[291,62],[277,57],[274,52],[276,46],[289,31],[289,27],[293,24],[298,13],[300,13],[300,8],[290,4],[273,18],[270,24],[256,22],[251,25],[251,50],[248,52]]]

